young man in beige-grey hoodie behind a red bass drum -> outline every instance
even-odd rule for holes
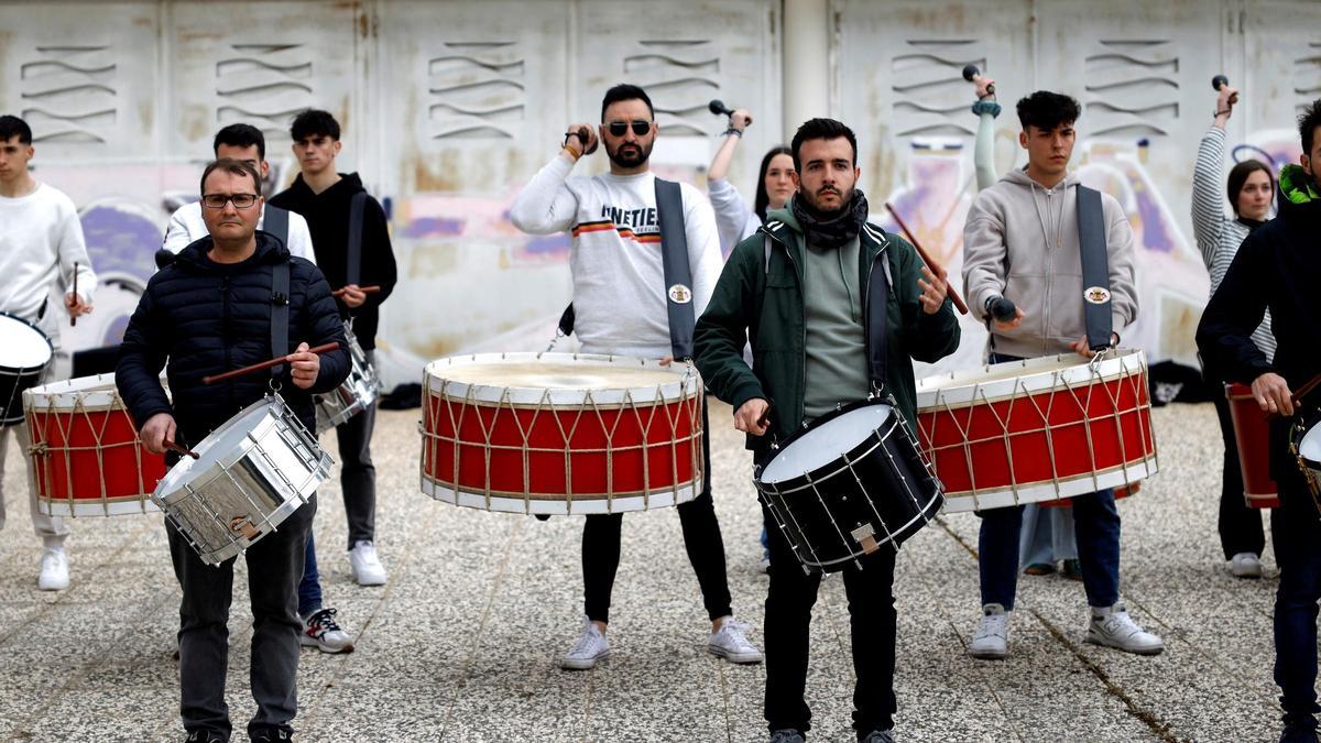
[[[1078,235],[1077,173],[1069,172],[1081,110],[1067,95],[1037,91],[1018,100],[1028,165],[1011,171],[972,202],[963,226],[963,286],[968,305],[991,331],[991,362],[1059,353],[1092,356],[1085,328],[1085,282]],[[1108,263],[1111,327],[1137,316],[1133,235],[1119,202],[1100,194]],[[1094,291],[1094,290],[1089,290]],[[1104,292],[1102,292],[1104,296]],[[991,317],[999,299],[1017,309],[1008,321]],[[1094,300],[1090,300],[1094,301]],[[1119,342],[1119,333],[1111,334]],[[1087,641],[1140,654],[1164,649],[1119,600],[1119,512],[1114,490],[1073,498],[1082,582],[1091,606]],[[980,513],[982,620],[968,652],[979,658],[1008,653],[1009,615],[1018,579],[1022,506]]]

